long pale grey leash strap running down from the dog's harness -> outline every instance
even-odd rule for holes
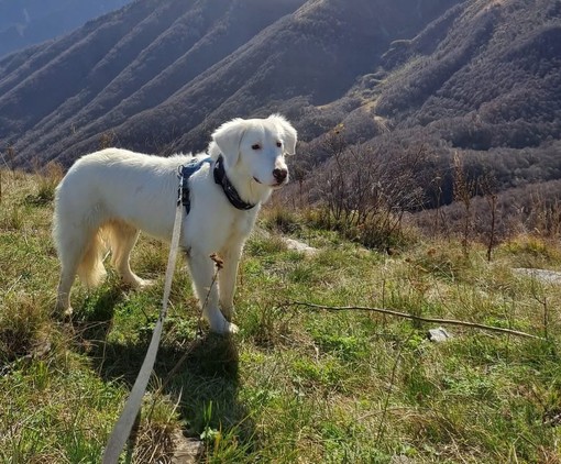
[[[185,181],[186,179],[183,177],[183,175],[180,175],[179,192],[182,191]],[[118,462],[124,443],[131,434],[132,426],[141,408],[142,398],[144,396],[144,391],[146,390],[146,386],[148,385],[152,369],[154,368],[160,339],[162,338],[162,330],[164,328],[164,319],[167,314],[167,300],[169,299],[169,292],[172,290],[172,278],[174,276],[175,263],[177,261],[183,217],[184,207],[179,197],[179,200],[177,201],[177,209],[175,211],[174,232],[172,234],[169,257],[167,259],[162,311],[160,311],[160,317],[157,319],[156,327],[154,328],[154,332],[152,333],[152,340],[150,341],[146,357],[144,357],[144,362],[142,363],[139,376],[136,377],[134,386],[132,387],[131,395],[124,405],[121,417],[117,421],[113,431],[111,432],[111,437],[109,437],[109,441],[103,453],[103,464],[116,464]]]

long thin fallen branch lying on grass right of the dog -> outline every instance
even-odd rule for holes
[[[326,306],[326,305],[315,305],[315,303],[305,302],[305,301],[288,301],[285,306],[304,306],[307,308],[324,309],[328,311],[351,311],[351,310],[373,311],[373,312],[380,312],[382,314],[395,316],[397,318],[410,319],[414,321],[430,322],[430,323],[442,324],[442,325],[461,325],[461,327],[468,327],[471,329],[486,330],[490,332],[507,333],[510,335],[524,336],[527,339],[546,340],[542,336],[532,335],[531,333],[520,332],[518,330],[513,330],[513,329],[504,329],[501,327],[485,325],[485,324],[480,324],[477,322],[459,321],[455,319],[424,318],[421,316],[414,316],[414,314],[409,314],[407,312],[400,312],[400,311],[396,311],[393,309],[385,309],[385,308],[370,308],[370,307],[364,307],[364,306]]]

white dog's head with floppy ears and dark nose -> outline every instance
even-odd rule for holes
[[[288,181],[285,155],[295,154],[296,140],[296,130],[279,114],[233,119],[212,134],[230,169],[270,188]]]

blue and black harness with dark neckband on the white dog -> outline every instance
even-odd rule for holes
[[[189,177],[199,170],[205,164],[211,165],[212,158],[210,156],[206,158],[193,158],[189,163],[184,164],[178,168],[178,177],[180,181],[177,201],[180,201],[185,207],[186,216],[189,214],[191,209]],[[215,166],[212,167],[212,174],[215,176],[215,183],[222,187],[226,197],[234,208],[239,210],[250,210],[255,207],[255,205],[248,203],[241,199],[240,194],[238,194],[238,190],[226,175],[224,158],[222,155],[220,155],[216,161]]]

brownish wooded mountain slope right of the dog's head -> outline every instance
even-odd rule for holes
[[[426,206],[453,200],[454,157],[495,190],[561,178],[560,33],[559,0],[458,3],[394,41],[344,98],[305,109],[308,165],[329,156],[322,134],[342,123],[346,143],[388,158],[427,153]]]

